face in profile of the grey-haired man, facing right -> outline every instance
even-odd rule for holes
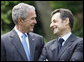
[[[23,29],[26,33],[33,31],[34,25],[36,24],[36,13],[34,10],[28,11],[27,18],[23,21]]]

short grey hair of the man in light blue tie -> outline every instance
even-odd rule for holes
[[[26,19],[29,9],[35,10],[34,6],[25,3],[19,3],[18,5],[14,6],[12,9],[13,22],[17,24],[18,17],[21,17],[23,20]]]

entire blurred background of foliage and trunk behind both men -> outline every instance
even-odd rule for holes
[[[83,37],[83,1],[1,1],[1,35],[14,28],[12,8],[21,2],[35,6],[37,24],[34,32],[44,36],[45,42],[56,38],[50,28],[50,14],[57,8],[67,8],[72,11],[75,20],[72,33]]]

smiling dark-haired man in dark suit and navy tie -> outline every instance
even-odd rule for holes
[[[51,15],[50,27],[57,39],[44,46],[39,61],[83,61],[83,38],[71,32],[74,22],[71,11],[60,8],[54,10]],[[63,39],[61,44],[60,38]]]

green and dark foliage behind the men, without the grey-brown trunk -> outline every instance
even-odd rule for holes
[[[20,2],[35,6],[34,1],[1,1],[1,35],[13,29],[14,23],[11,16],[12,8]],[[75,19],[72,32],[80,37],[83,37],[83,1],[49,1],[49,3],[52,11],[57,8],[70,9],[74,14]],[[38,24],[35,26],[34,32],[45,37],[41,23],[39,21],[39,17],[37,17],[37,19]]]

